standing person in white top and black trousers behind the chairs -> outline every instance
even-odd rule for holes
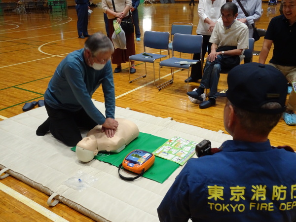
[[[217,20],[221,17],[220,9],[225,3],[226,0],[199,0],[197,8],[199,22],[196,33],[203,36],[202,58],[200,58],[199,54],[193,54],[193,59],[201,59],[202,63],[192,66],[190,77],[185,79],[185,82],[196,82],[198,79],[201,79],[201,66],[203,65],[207,49],[209,49],[208,54],[211,53],[212,43],[209,40]]]

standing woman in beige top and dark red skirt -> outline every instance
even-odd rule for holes
[[[108,24],[109,24],[109,38],[112,38],[112,34],[114,32],[113,20],[116,19],[120,24],[121,20],[124,17],[129,16],[129,10],[132,7],[131,0],[113,0],[116,12],[114,12],[112,0],[102,0],[102,8],[103,11],[108,16]],[[121,72],[121,63],[128,62],[128,59],[131,55],[135,55],[135,40],[134,33],[125,33],[126,38],[126,49],[115,49],[112,55],[112,64],[116,64],[117,67],[114,70],[114,73]],[[112,40],[112,39],[111,39]],[[131,61],[130,73],[136,73],[135,69],[135,61]]]

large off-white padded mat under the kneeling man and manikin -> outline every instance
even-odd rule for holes
[[[94,101],[94,104],[105,113],[104,103]],[[140,132],[166,139],[174,136],[195,142],[207,139],[212,147],[232,139],[226,134],[118,107],[115,117],[133,121]],[[163,184],[146,178],[123,181],[117,167],[98,160],[81,163],[70,147],[50,133],[36,136],[37,127],[46,118],[45,108],[40,107],[0,121],[0,169],[8,168],[6,173],[48,195],[57,193],[55,199],[96,221],[158,221],[156,209],[181,166]],[[63,184],[78,172],[97,180],[80,191]]]

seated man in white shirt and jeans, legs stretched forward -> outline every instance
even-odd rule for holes
[[[221,7],[222,21],[218,21],[214,27],[210,42],[211,53],[208,55],[204,68],[204,74],[200,86],[196,91],[187,92],[187,95],[202,101],[200,97],[205,88],[210,89],[209,100],[199,105],[200,109],[206,109],[216,104],[215,95],[218,90],[220,71],[224,68],[231,69],[243,60],[243,50],[249,48],[248,27],[235,20],[238,9],[235,3],[227,2]]]

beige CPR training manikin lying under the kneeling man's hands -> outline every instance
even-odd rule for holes
[[[102,131],[102,125],[95,126],[76,146],[77,158],[82,162],[91,161],[101,150],[120,152],[130,142],[139,136],[135,123],[127,119],[115,118],[118,127],[114,137],[108,137]]]

